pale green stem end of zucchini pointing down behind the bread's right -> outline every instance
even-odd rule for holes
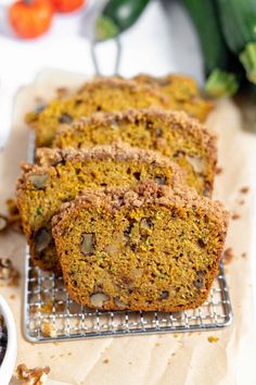
[[[214,98],[233,96],[239,89],[239,80],[232,72],[214,70],[205,83],[205,91]]]

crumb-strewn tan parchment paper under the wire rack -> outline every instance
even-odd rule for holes
[[[15,181],[20,174],[18,162],[27,157],[28,129],[24,123],[24,113],[36,104],[35,98],[52,97],[56,86],[76,87],[85,78],[81,75],[47,70],[35,84],[17,92],[12,134],[7,148],[0,152],[0,212],[4,211],[5,199],[14,195]],[[249,268],[256,134],[253,134],[253,127],[244,127],[241,110],[227,99],[217,102],[207,124],[219,135],[219,165],[223,169],[216,177],[215,197],[222,200],[231,213],[240,215],[231,220],[226,246],[232,247],[234,253],[232,262],[227,265],[233,324],[218,332],[57,344],[27,343],[22,332],[25,239],[10,231],[0,235],[0,256],[13,261],[22,280],[17,288],[0,287],[0,291],[9,301],[16,321],[17,363],[26,363],[31,368],[50,365],[51,378],[74,385],[256,383]],[[247,194],[240,191],[244,186],[249,186]],[[241,204],[241,200],[244,200],[244,204]],[[246,256],[242,257],[243,253]],[[219,340],[210,344],[207,338],[213,335],[219,337]],[[13,380],[11,384],[14,383]]]

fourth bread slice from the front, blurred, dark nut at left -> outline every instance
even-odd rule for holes
[[[97,78],[66,99],[51,101],[43,110],[26,116],[36,133],[36,146],[50,146],[59,125],[72,123],[97,111],[126,110],[158,105],[168,108],[167,98],[157,89],[132,80]]]

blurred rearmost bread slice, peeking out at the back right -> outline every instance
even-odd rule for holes
[[[197,117],[204,122],[213,110],[213,104],[203,99],[200,95],[196,83],[189,76],[180,74],[170,74],[163,77],[153,77],[146,74],[140,74],[133,77],[139,84],[145,84],[161,89],[168,98],[169,104],[174,110],[185,111],[189,115]]]

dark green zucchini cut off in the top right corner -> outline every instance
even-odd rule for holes
[[[256,84],[256,1],[217,0],[229,49],[239,55],[246,77]]]

